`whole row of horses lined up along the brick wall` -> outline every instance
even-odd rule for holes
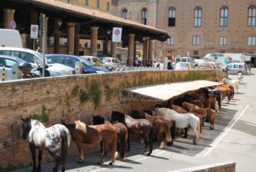
[[[184,133],[183,137],[187,138],[189,127],[193,130],[193,144],[196,145],[199,143],[200,133],[206,121],[210,123],[211,130],[215,129],[215,117],[221,108],[222,100],[227,97],[227,103],[229,103],[234,93],[238,93],[238,86],[231,83],[232,81],[224,79],[220,85],[186,93],[175,100],[155,105],[151,110],[132,110],[129,115],[113,111],[110,121],[100,115],[93,115],[94,125],[88,125],[79,120],[61,119],[61,124],[46,128],[37,120],[21,118],[23,138],[28,136],[32,153],[32,171],[41,171],[43,150],[47,150],[51,157],[56,159],[53,171],[58,171],[60,164],[63,167],[62,171],[65,171],[70,138],[75,142],[79,151],[78,163],[84,162],[84,143],[94,145],[100,143],[102,157],[98,164],[104,163],[105,156],[110,150],[110,165],[119,156],[121,161],[125,160],[125,151],[130,149],[130,133],[138,135],[143,140],[145,146],[142,152],[146,156],[151,155],[155,140],[160,141],[160,149],[165,149],[166,146],[174,144],[177,133]],[[39,149],[38,166],[36,149]]]

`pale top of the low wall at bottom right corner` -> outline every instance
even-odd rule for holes
[[[184,168],[184,169],[179,169],[179,170],[169,171],[169,172],[191,172],[191,171],[204,171],[204,170],[211,171],[211,169],[213,168],[230,168],[230,167],[236,168],[236,163],[233,161],[224,161],[221,163],[209,164],[205,166],[195,166],[191,168]]]

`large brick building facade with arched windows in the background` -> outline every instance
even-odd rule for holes
[[[256,53],[255,0],[113,0],[112,4],[113,15],[169,32],[170,39],[156,41],[156,57]]]

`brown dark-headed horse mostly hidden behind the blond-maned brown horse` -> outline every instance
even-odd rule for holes
[[[94,125],[100,124],[111,124],[110,121],[101,117],[101,115],[93,115],[92,122]],[[125,160],[125,147],[128,138],[128,129],[122,123],[113,124],[117,131],[117,152],[115,152],[115,157],[118,157],[118,153],[120,152],[121,161]],[[101,153],[103,153],[103,142],[101,141]]]

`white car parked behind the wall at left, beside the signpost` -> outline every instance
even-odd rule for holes
[[[39,66],[41,67],[43,65],[43,55],[37,51],[32,51],[27,48],[0,47],[0,55],[11,55],[13,57],[21,58],[26,62],[30,62],[34,69],[37,69]],[[58,63],[49,63],[47,62],[47,59],[45,62],[51,77],[75,73],[75,70],[72,67],[60,65]],[[39,71],[37,72],[37,75],[40,76]]]

